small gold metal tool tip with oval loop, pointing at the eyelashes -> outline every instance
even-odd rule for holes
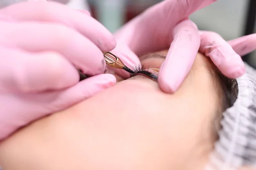
[[[131,74],[134,74],[134,71],[132,71],[130,68],[128,68],[126,65],[124,65],[124,63],[121,61],[121,59],[116,57],[114,54],[112,54],[110,52],[106,52],[103,55],[104,55],[106,63],[109,66],[111,66],[112,68],[123,69]]]

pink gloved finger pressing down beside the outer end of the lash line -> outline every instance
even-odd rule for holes
[[[189,73],[200,46],[200,35],[194,23],[185,20],[174,29],[174,40],[158,76],[160,88],[173,93]]]

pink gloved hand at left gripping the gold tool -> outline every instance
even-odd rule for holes
[[[0,24],[0,140],[116,82],[102,74],[116,41],[87,12],[22,2],[0,10]],[[76,67],[93,77],[79,82]]]

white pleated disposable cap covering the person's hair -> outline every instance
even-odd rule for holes
[[[246,68],[247,73],[237,79],[236,102],[223,113],[219,140],[206,170],[256,168],[256,70]]]

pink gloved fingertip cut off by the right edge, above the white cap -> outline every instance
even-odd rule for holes
[[[240,56],[244,56],[256,50],[256,34],[250,34],[228,41],[233,50]]]

